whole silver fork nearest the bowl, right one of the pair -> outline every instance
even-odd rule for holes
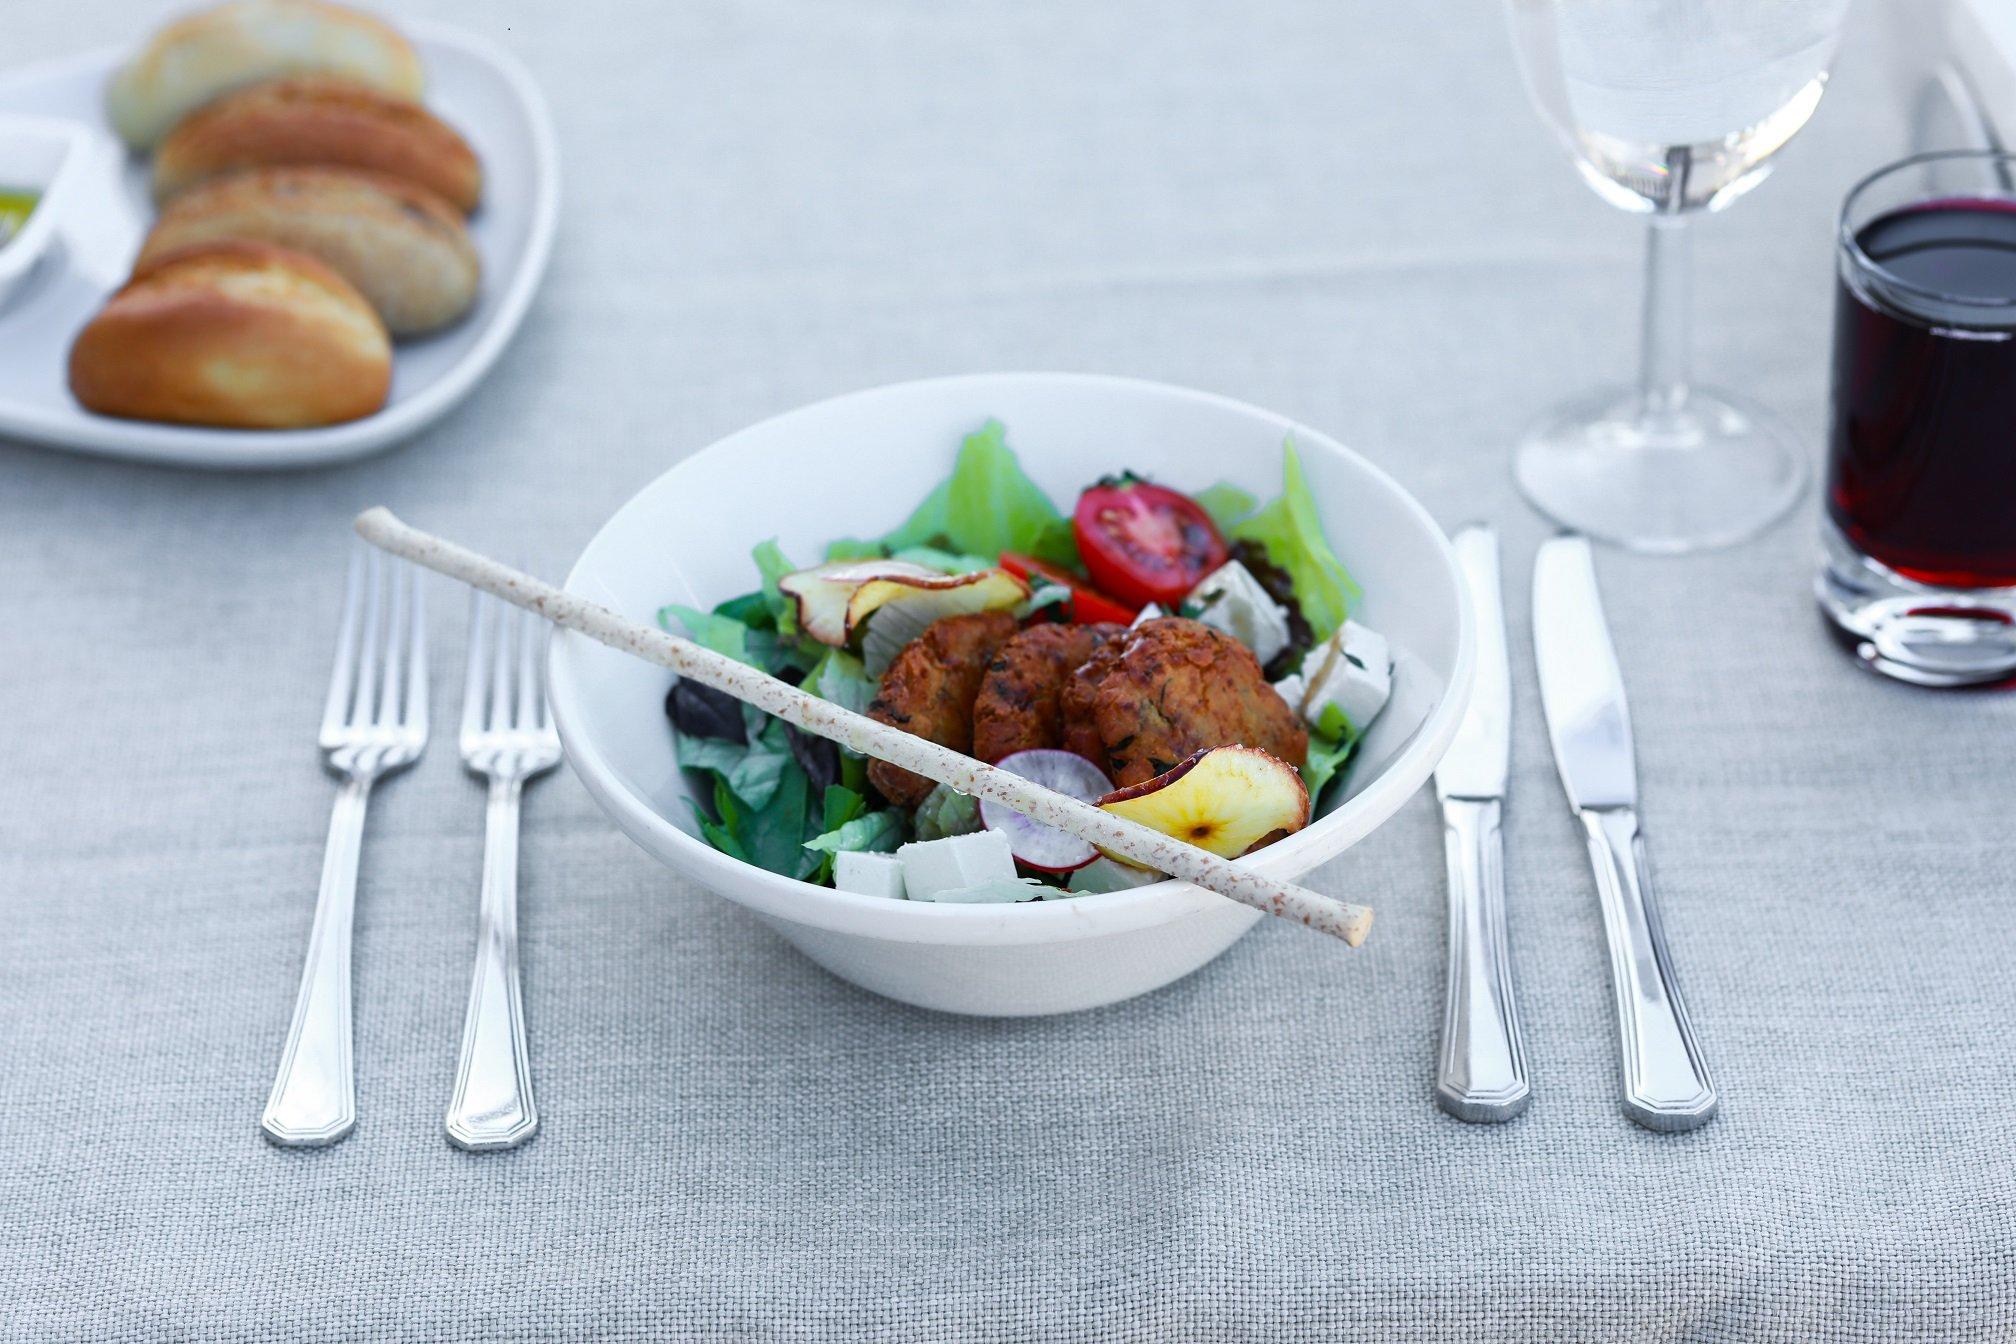
[[[518,798],[526,780],[560,764],[560,735],[546,709],[544,635],[532,613],[472,594],[462,764],[490,780],[490,810],[476,971],[448,1102],[448,1140],[472,1153],[516,1149],[538,1130],[518,991]]]

